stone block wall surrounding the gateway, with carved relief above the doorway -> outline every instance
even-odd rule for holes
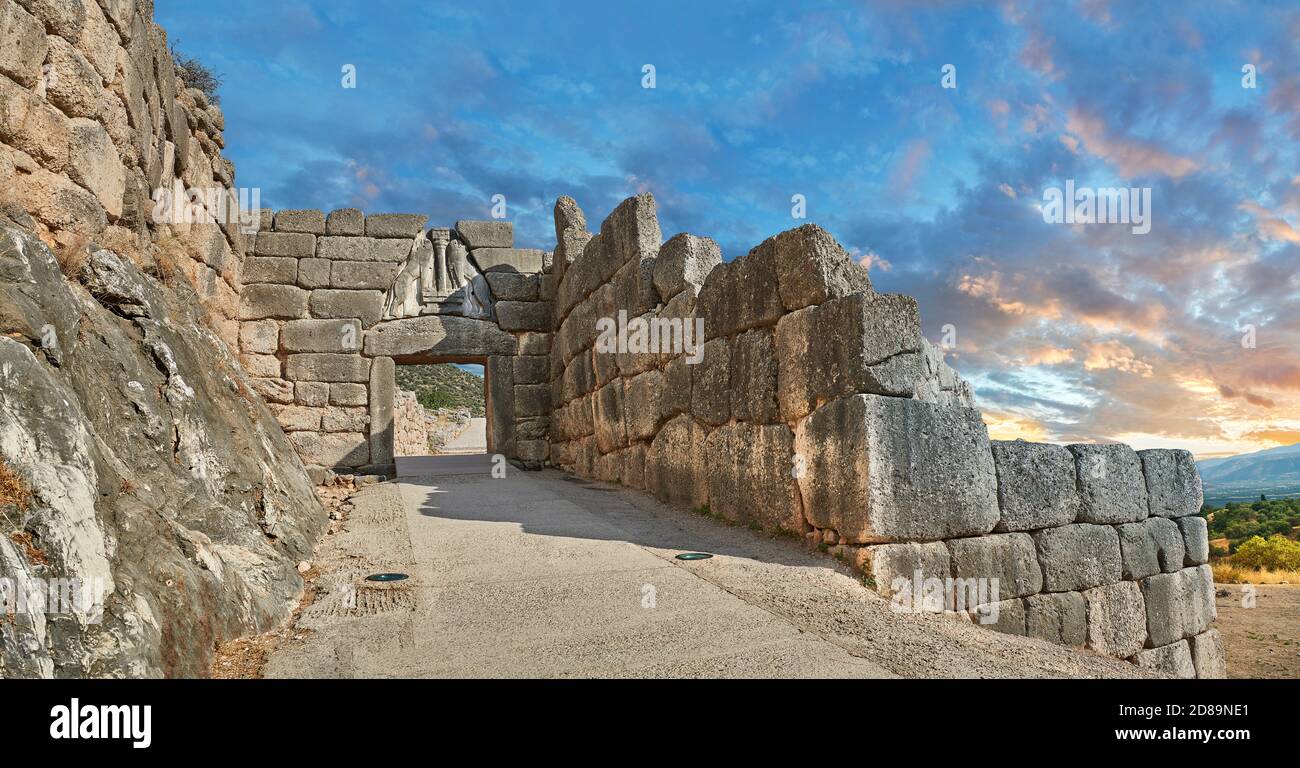
[[[546,457],[550,255],[515,248],[510,222],[426,220],[263,212],[243,264],[240,356],[317,480],[393,472],[403,361],[482,363],[488,450],[532,468]],[[434,244],[452,243],[467,259],[452,277],[465,282],[438,290]]]

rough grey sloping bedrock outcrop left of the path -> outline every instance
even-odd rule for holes
[[[0,504],[0,580],[91,600],[0,621],[0,677],[205,676],[217,642],[294,607],[325,513],[183,278],[91,246],[65,279],[12,216],[0,459],[30,498]]]

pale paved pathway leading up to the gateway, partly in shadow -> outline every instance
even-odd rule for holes
[[[493,478],[468,459],[410,464],[354,496],[316,560],[320,594],[298,622],[312,632],[272,654],[268,677],[1140,674],[896,613],[793,539],[555,470]],[[380,570],[411,578],[364,581]]]

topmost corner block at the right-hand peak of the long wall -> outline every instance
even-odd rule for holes
[[[772,251],[781,301],[794,311],[858,292],[871,292],[867,270],[815,224],[763,240],[755,251]]]

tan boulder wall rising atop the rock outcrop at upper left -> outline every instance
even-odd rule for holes
[[[235,170],[221,110],[177,78],[152,0],[0,0],[0,205],[53,248],[94,240],[178,270],[234,350],[238,221],[155,217],[159,190],[230,190]]]

